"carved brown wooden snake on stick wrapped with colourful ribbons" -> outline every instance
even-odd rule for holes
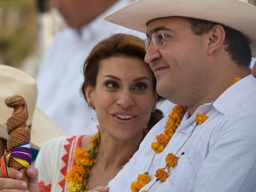
[[[30,141],[30,128],[27,127],[28,109],[25,99],[22,96],[14,95],[6,98],[6,106],[14,109],[12,115],[7,119],[7,151]],[[23,169],[23,165],[15,161],[14,158],[9,159],[9,166],[17,170]]]

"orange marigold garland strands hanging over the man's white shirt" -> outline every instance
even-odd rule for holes
[[[234,78],[234,81],[230,84],[230,86],[234,85],[234,83],[236,83],[240,79],[240,77]],[[213,102],[211,102],[211,105],[213,104]],[[173,107],[173,111],[171,112],[171,114],[169,114],[169,119],[164,127],[164,133],[156,135],[156,143],[151,143],[151,148],[153,149],[153,151],[155,151],[155,153],[162,152],[163,149],[167,146],[169,140],[171,140],[171,137],[179,126],[179,123],[181,123],[181,120],[186,111],[186,106],[176,105]],[[208,116],[205,114],[205,112],[203,114],[196,114],[194,128],[197,127],[197,125],[202,125],[202,123],[208,119]],[[172,152],[167,154],[165,159],[166,167],[156,170],[156,180],[151,186],[153,186],[158,181],[165,182],[165,180],[169,177],[171,167],[175,167],[177,165],[178,159],[179,157],[177,157]],[[148,175],[148,172],[145,172],[144,174],[139,174],[139,176],[137,177],[137,181],[131,183],[130,190],[132,192],[139,192],[143,188],[143,186],[147,185],[150,181],[151,177],[150,175]],[[142,190],[142,192],[148,192],[151,186],[148,188],[148,190]]]

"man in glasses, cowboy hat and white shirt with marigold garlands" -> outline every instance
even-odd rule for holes
[[[156,90],[179,106],[92,191],[256,191],[255,18],[237,0],[137,0],[106,17],[147,33]]]

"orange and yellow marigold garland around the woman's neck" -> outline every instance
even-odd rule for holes
[[[75,165],[65,176],[69,192],[82,192],[88,189],[88,178],[92,166],[96,164],[100,131],[90,139],[89,150],[77,147],[74,153]]]

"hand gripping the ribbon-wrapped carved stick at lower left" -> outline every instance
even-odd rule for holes
[[[0,191],[30,191],[38,192],[38,170],[35,167],[27,169],[28,183],[22,181],[22,173],[19,170],[9,168],[10,178],[2,177],[0,172]]]

